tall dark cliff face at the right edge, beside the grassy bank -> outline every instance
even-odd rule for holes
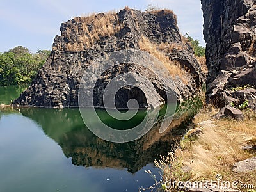
[[[255,110],[256,1],[202,0],[209,68],[207,97],[219,108],[248,100]]]

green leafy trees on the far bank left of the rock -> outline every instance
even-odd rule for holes
[[[49,50],[32,53],[22,46],[0,52],[0,85],[31,83],[50,53]]]

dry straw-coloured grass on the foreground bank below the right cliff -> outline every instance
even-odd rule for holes
[[[248,143],[256,144],[255,113],[247,111],[244,121],[223,118],[210,122],[216,112],[216,109],[208,107],[196,115],[196,128],[187,133],[180,143],[181,148],[175,150],[175,155],[169,154],[156,162],[163,172],[163,181],[216,180],[216,174],[221,174],[223,181],[232,183],[237,180],[256,186],[256,171],[246,174],[232,171],[236,162],[256,155],[242,148]],[[205,121],[207,123],[202,124]],[[198,130],[202,131],[199,136],[191,136]]]

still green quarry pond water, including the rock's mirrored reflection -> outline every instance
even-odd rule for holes
[[[23,90],[2,86],[0,100],[6,103]],[[177,109],[168,130],[160,134],[156,124],[145,136],[129,143],[111,143],[95,136],[84,124],[78,108],[0,108],[0,191],[147,188],[154,180],[145,170],[160,179],[154,159],[167,154],[182,138],[186,119],[199,108],[198,100],[185,102]],[[120,127],[138,124],[145,116],[141,110],[132,122],[119,125],[106,111],[97,112],[108,124]]]

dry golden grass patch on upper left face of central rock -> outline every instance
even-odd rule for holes
[[[91,14],[87,17],[75,17],[74,23],[66,23],[68,26],[62,31],[70,42],[61,44],[56,49],[66,49],[68,51],[83,51],[86,47],[90,47],[102,37],[110,37],[115,35],[123,27],[119,23],[116,12]],[[77,34],[75,39],[71,34]]]

